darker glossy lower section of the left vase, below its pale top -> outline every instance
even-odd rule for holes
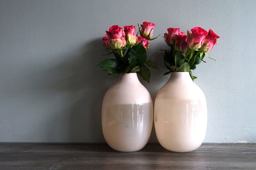
[[[102,108],[104,138],[111,148],[125,152],[140,150],[150,137],[152,129],[151,103],[106,104]],[[132,150],[131,150],[132,151]]]

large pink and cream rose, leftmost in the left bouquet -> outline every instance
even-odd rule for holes
[[[109,27],[109,31],[106,31],[106,35],[102,39],[104,41],[103,46],[111,48],[111,50],[118,50],[125,46],[125,33],[124,29],[118,27],[118,25],[113,25]]]

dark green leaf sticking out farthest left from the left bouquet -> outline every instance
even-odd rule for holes
[[[116,59],[106,59],[97,66],[104,68],[109,74],[118,74],[118,62]]]

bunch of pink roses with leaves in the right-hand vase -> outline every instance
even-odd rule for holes
[[[201,27],[195,27],[188,31],[187,35],[180,32],[179,28],[168,28],[168,33],[164,33],[164,40],[171,47],[164,50],[164,65],[171,72],[189,72],[192,80],[196,78],[191,70],[196,69],[196,65],[204,61],[205,55],[209,52],[220,36],[216,35],[211,29],[209,32]],[[211,57],[209,57],[212,59]],[[213,59],[214,60],[214,59]]]

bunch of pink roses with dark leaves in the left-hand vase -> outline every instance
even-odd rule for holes
[[[152,38],[155,24],[143,22],[136,34],[136,28],[133,25],[119,27],[113,25],[106,31],[102,39],[103,46],[106,46],[115,56],[115,59],[106,59],[98,64],[109,74],[138,73],[143,80],[150,81],[150,71],[148,67],[158,69],[156,64],[147,60],[147,50]],[[138,34],[140,33],[140,36]],[[147,67],[148,66],[148,67]]]

